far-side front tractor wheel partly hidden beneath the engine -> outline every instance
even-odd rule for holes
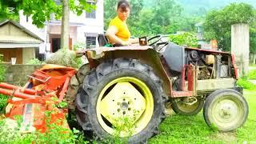
[[[181,115],[196,115],[202,110],[202,106],[204,104],[203,98],[197,98],[197,102],[193,103],[192,105],[189,104],[188,98],[179,98],[175,101],[172,99],[172,108],[176,114]]]

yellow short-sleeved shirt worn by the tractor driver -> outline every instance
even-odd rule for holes
[[[128,26],[126,25],[126,22],[122,22],[118,16],[110,21],[110,26],[115,26],[118,29],[118,32],[115,34],[118,38],[121,38],[123,41],[129,40],[130,31]]]

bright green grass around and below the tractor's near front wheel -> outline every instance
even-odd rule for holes
[[[160,134],[149,143],[256,143],[256,90],[245,90],[249,117],[244,126],[234,132],[220,133],[210,129],[202,112],[196,116],[174,114],[160,126]]]

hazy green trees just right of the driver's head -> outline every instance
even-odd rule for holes
[[[132,33],[136,36],[175,33],[181,22],[178,18],[182,7],[174,0],[155,0],[151,3],[154,6],[142,9]]]

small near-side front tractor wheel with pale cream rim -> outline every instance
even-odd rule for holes
[[[248,116],[246,99],[236,90],[216,90],[206,98],[203,115],[208,126],[220,131],[236,130]]]

